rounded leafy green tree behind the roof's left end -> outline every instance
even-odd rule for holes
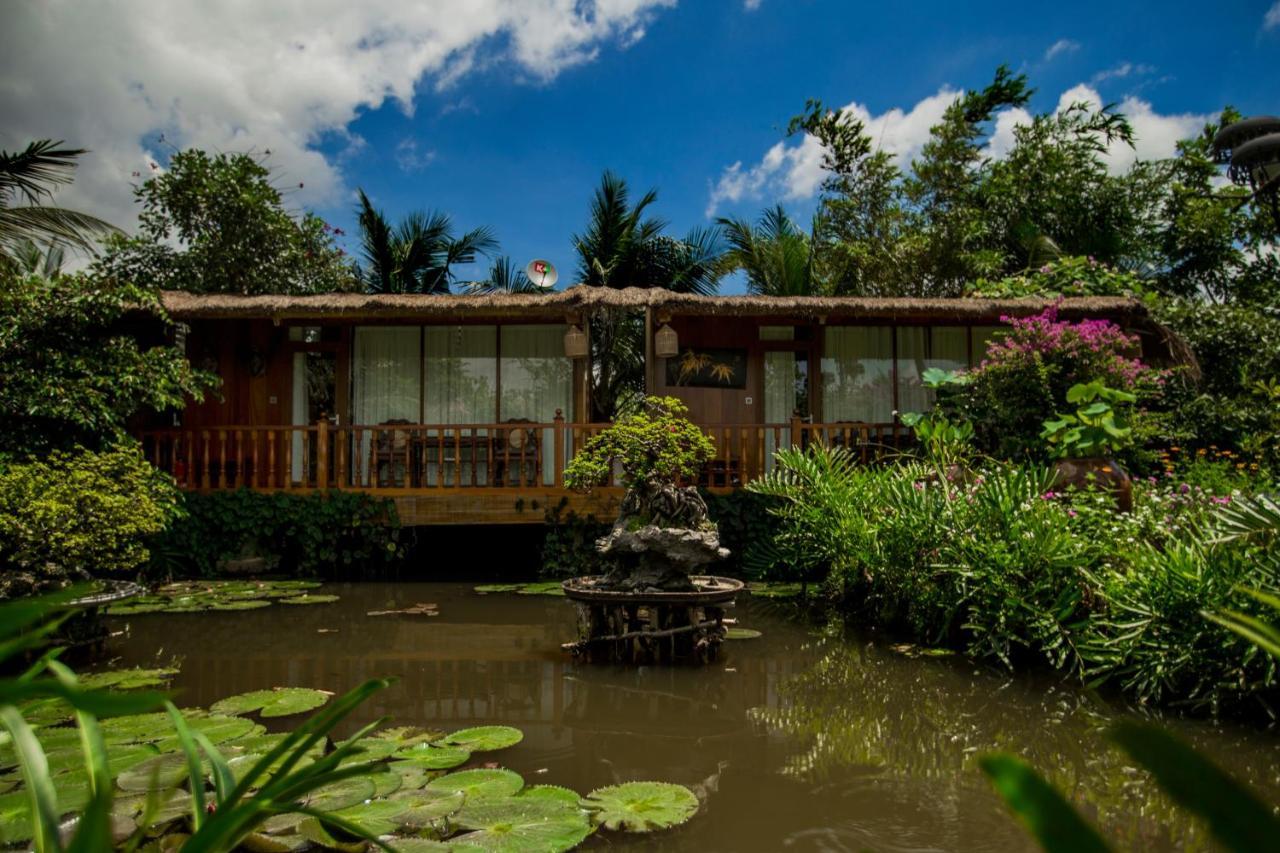
[[[179,151],[134,190],[138,232],[106,241],[99,269],[196,293],[323,293],[356,277],[332,229],[293,216],[271,173],[248,154]]]

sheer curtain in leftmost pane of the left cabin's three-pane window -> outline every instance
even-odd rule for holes
[[[352,347],[351,418],[372,426],[390,420],[417,423],[421,416],[421,330],[416,325],[357,325]],[[372,435],[362,433],[357,453],[370,459]],[[383,441],[394,442],[394,437]],[[402,441],[408,441],[403,435]],[[371,471],[361,465],[367,482]]]

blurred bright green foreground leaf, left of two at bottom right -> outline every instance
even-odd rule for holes
[[[1111,849],[1027,762],[997,753],[983,756],[978,765],[1047,853],[1105,853]]]

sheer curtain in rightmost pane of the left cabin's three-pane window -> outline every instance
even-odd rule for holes
[[[572,405],[573,364],[564,356],[564,327],[502,327],[502,419],[549,424],[557,409],[571,419]],[[541,432],[543,482],[550,484],[556,432]]]

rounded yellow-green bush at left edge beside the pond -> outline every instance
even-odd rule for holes
[[[173,482],[136,447],[0,464],[0,597],[133,571],[177,512]]]

